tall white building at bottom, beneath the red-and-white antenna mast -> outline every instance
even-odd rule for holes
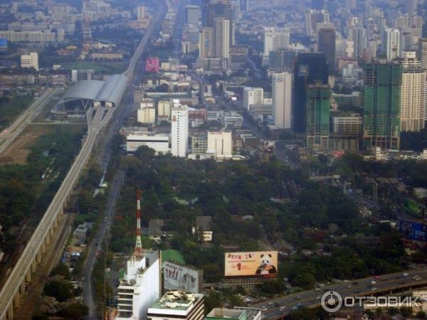
[[[116,320],[147,319],[147,310],[161,293],[159,252],[127,260],[126,274],[117,287]]]

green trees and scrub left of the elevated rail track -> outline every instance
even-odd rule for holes
[[[36,225],[48,208],[80,149],[81,137],[81,132],[58,127],[36,139],[25,164],[0,166],[0,248],[5,253],[1,270],[22,241],[21,226]]]

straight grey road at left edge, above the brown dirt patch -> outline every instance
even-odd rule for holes
[[[41,112],[43,107],[49,102],[50,98],[56,93],[57,89],[48,88],[43,95],[38,97],[26,110],[9,127],[0,133],[0,154],[11,145],[14,140],[19,137],[28,124]]]

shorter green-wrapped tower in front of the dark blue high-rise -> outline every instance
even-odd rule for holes
[[[329,85],[316,83],[307,87],[306,100],[306,146],[307,149],[327,149],[330,136]]]

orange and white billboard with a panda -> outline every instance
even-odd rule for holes
[[[278,252],[226,252],[224,272],[226,277],[276,277]]]

